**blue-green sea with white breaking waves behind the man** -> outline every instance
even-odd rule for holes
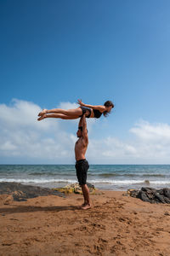
[[[51,189],[77,183],[77,176],[74,165],[0,165],[1,182]],[[90,165],[87,182],[97,189],[118,191],[170,188],[170,165]]]

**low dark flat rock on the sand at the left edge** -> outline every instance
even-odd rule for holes
[[[0,183],[0,195],[3,194],[12,195],[14,201],[26,201],[28,198],[45,195],[64,196],[59,191],[53,189],[24,185],[21,183]]]

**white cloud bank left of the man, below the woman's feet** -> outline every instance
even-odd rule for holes
[[[0,105],[0,157],[30,160],[74,158],[76,138],[63,131],[53,119],[37,121],[41,108],[33,102],[13,100]]]

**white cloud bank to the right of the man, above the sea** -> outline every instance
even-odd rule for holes
[[[116,137],[90,140],[89,158],[98,156],[105,163],[169,163],[170,125],[150,124],[141,120],[130,132],[134,135],[130,142]]]

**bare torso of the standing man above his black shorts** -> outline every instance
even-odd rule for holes
[[[75,158],[76,160],[85,159],[85,154],[88,148],[88,143],[85,142],[83,137],[80,137],[75,144]]]

